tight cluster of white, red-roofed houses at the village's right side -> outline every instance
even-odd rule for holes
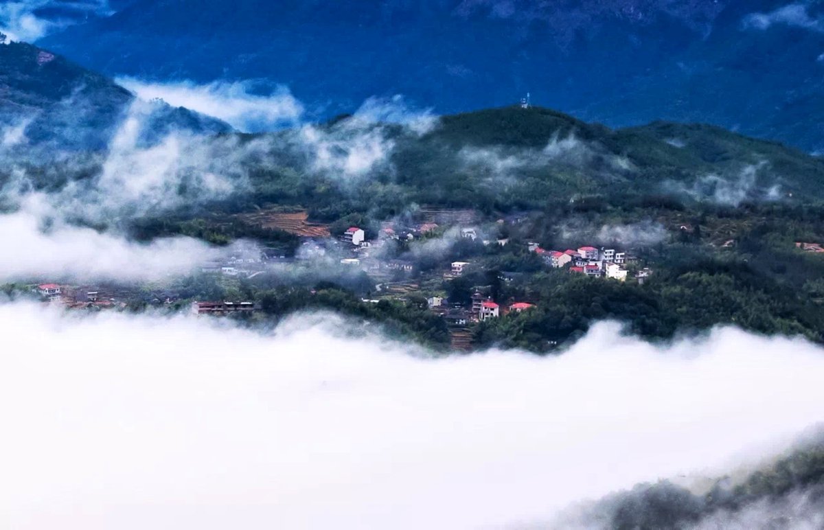
[[[627,256],[626,252],[595,246],[582,246],[577,251],[546,251],[537,243],[530,243],[529,250],[541,256],[546,265],[555,269],[569,266],[569,272],[596,278],[617,279],[621,282],[625,281],[629,274],[625,268],[626,263],[635,259],[633,256]]]

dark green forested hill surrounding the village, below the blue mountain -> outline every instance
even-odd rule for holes
[[[541,108],[446,116],[426,132],[342,116],[317,125],[316,134],[333,146],[330,157],[345,157],[364,142],[386,157],[347,174],[316,167],[299,131],[237,135],[237,144],[222,145],[254,145],[255,154],[238,161],[246,181],[235,195],[130,221],[130,234],[140,241],[184,235],[219,246],[250,239],[288,260],[301,239],[246,214],[306,210],[333,238],[356,225],[372,242],[382,236],[382,223],[447,218],[412,242],[382,246],[368,272],[342,270],[338,258],[355,255],[339,249],[334,266],[323,270],[288,265],[287,273],[239,284],[198,276],[171,286],[176,298],[254,301],[263,307],[258,320],[267,321],[328,308],[438,348],[449,342],[447,327],[421,300],[439,296],[466,308],[476,291],[502,307],[535,307],[470,324],[475,347],[556,351],[603,319],[625,322],[651,340],[735,325],[824,342],[824,255],[795,245],[824,242],[818,157],[706,125],[611,130]],[[94,163],[63,178],[87,179]],[[43,181],[48,177],[44,172]],[[459,209],[472,220],[457,220]],[[470,225],[482,232],[477,241],[456,237]],[[608,227],[631,233],[616,236]],[[612,246],[639,259],[625,283],[590,279],[550,269],[527,242],[553,250]],[[412,270],[389,270],[389,260]],[[471,262],[470,270],[445,279],[456,260]],[[634,273],[643,267],[653,274],[641,284]],[[318,282],[327,284],[317,288]]]

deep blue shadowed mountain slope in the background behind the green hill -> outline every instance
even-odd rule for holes
[[[531,91],[611,126],[705,122],[816,151],[824,23],[820,2],[776,11],[788,3],[135,0],[42,43],[110,75],[265,78],[319,115],[376,95],[446,114]]]

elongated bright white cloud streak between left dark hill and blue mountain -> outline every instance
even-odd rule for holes
[[[191,81],[143,82],[119,77],[117,82],[143,100],[162,99],[227,122],[235,129],[253,133],[294,125],[303,106],[286,87],[256,93],[252,82],[215,81],[198,85]]]

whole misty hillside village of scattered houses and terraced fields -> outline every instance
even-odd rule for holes
[[[529,213],[484,219],[475,210],[433,209],[418,218],[339,224],[333,230],[333,225],[309,223],[306,213],[255,213],[249,222],[296,237],[292,251],[247,240],[227,247],[230,251],[222,259],[197,265],[183,284],[171,278],[133,284],[72,284],[44,278],[28,289],[43,302],[71,310],[160,307],[204,316],[254,317],[262,312],[255,289],[300,284],[311,298],[316,293],[313,286],[326,282],[349,289],[363,307],[422,307],[447,326],[453,348],[469,349],[477,326],[541,308],[548,295],[538,295],[536,284],[557,284],[575,276],[645,284],[656,267],[644,246],[607,246],[594,232],[590,237],[578,231],[574,237],[553,240],[578,242],[576,246],[542,244],[530,237],[536,231]],[[674,242],[695,237],[696,232],[684,223],[672,224],[669,231]],[[731,251],[736,242],[725,237],[723,245],[715,246]],[[797,242],[794,251],[816,254],[824,252],[824,246]],[[213,288],[204,290],[204,284]],[[237,288],[244,284],[259,287]]]

